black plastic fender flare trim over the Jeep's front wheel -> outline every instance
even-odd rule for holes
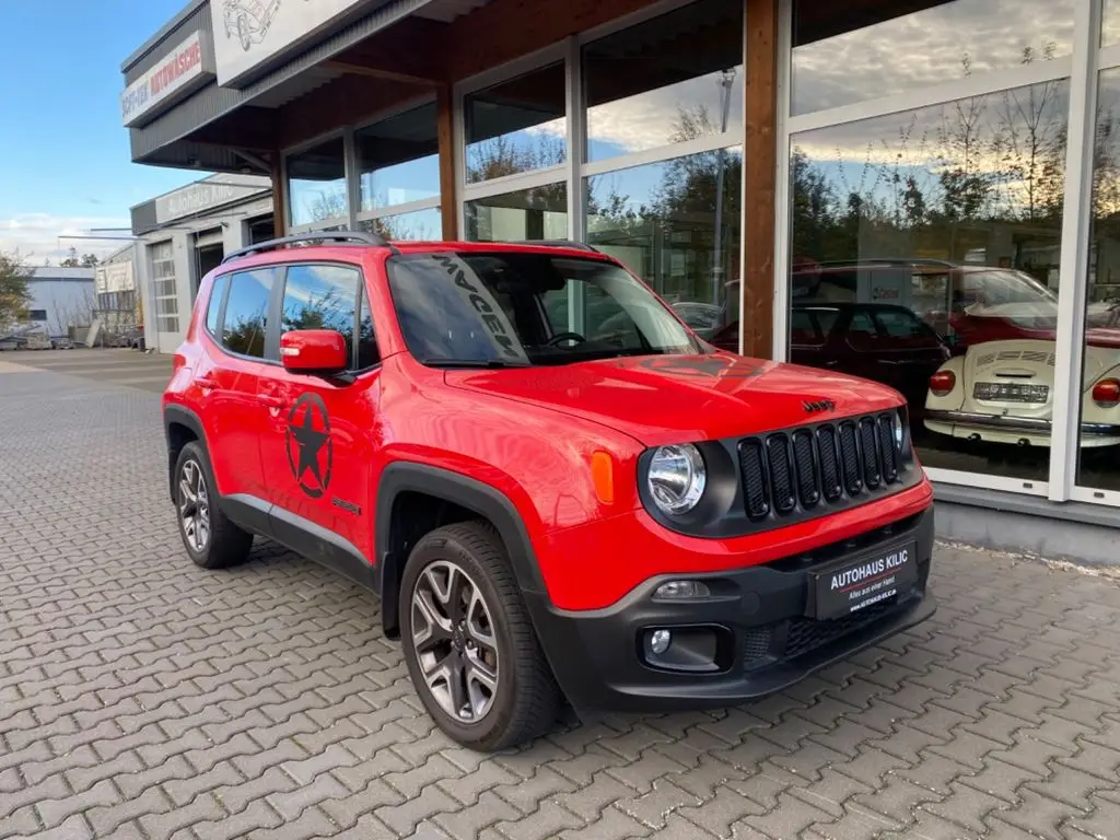
[[[377,483],[374,522],[375,557],[381,579],[381,615],[385,628],[396,627],[400,620],[396,582],[400,576],[395,572],[403,568],[405,558],[393,557],[391,528],[396,497],[408,492],[437,496],[489,520],[505,543],[517,586],[526,592],[545,592],[529,531],[508,496],[461,473],[414,461],[394,461],[385,467]]]

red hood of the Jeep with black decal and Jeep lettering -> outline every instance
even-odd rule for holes
[[[447,371],[455,388],[560,411],[646,446],[753,435],[903,403],[884,385],[726,353]]]

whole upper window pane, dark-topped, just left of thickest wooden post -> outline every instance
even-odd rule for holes
[[[700,0],[584,48],[587,160],[738,132],[743,0]]]

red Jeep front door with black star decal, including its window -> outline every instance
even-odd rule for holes
[[[380,357],[361,269],[289,265],[278,335],[295,329],[342,333],[351,370],[326,379],[280,366],[260,380],[258,399],[269,413],[261,463],[272,530],[292,549],[354,577],[374,558],[370,482],[381,440]]]

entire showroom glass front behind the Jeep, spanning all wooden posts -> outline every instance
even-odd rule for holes
[[[738,351],[773,209],[774,357],[898,390],[935,480],[1120,506],[1120,0],[781,0],[772,206],[743,200],[744,6],[457,83],[458,235],[588,242]],[[289,230],[440,237],[436,127],[432,97],[291,150]]]

